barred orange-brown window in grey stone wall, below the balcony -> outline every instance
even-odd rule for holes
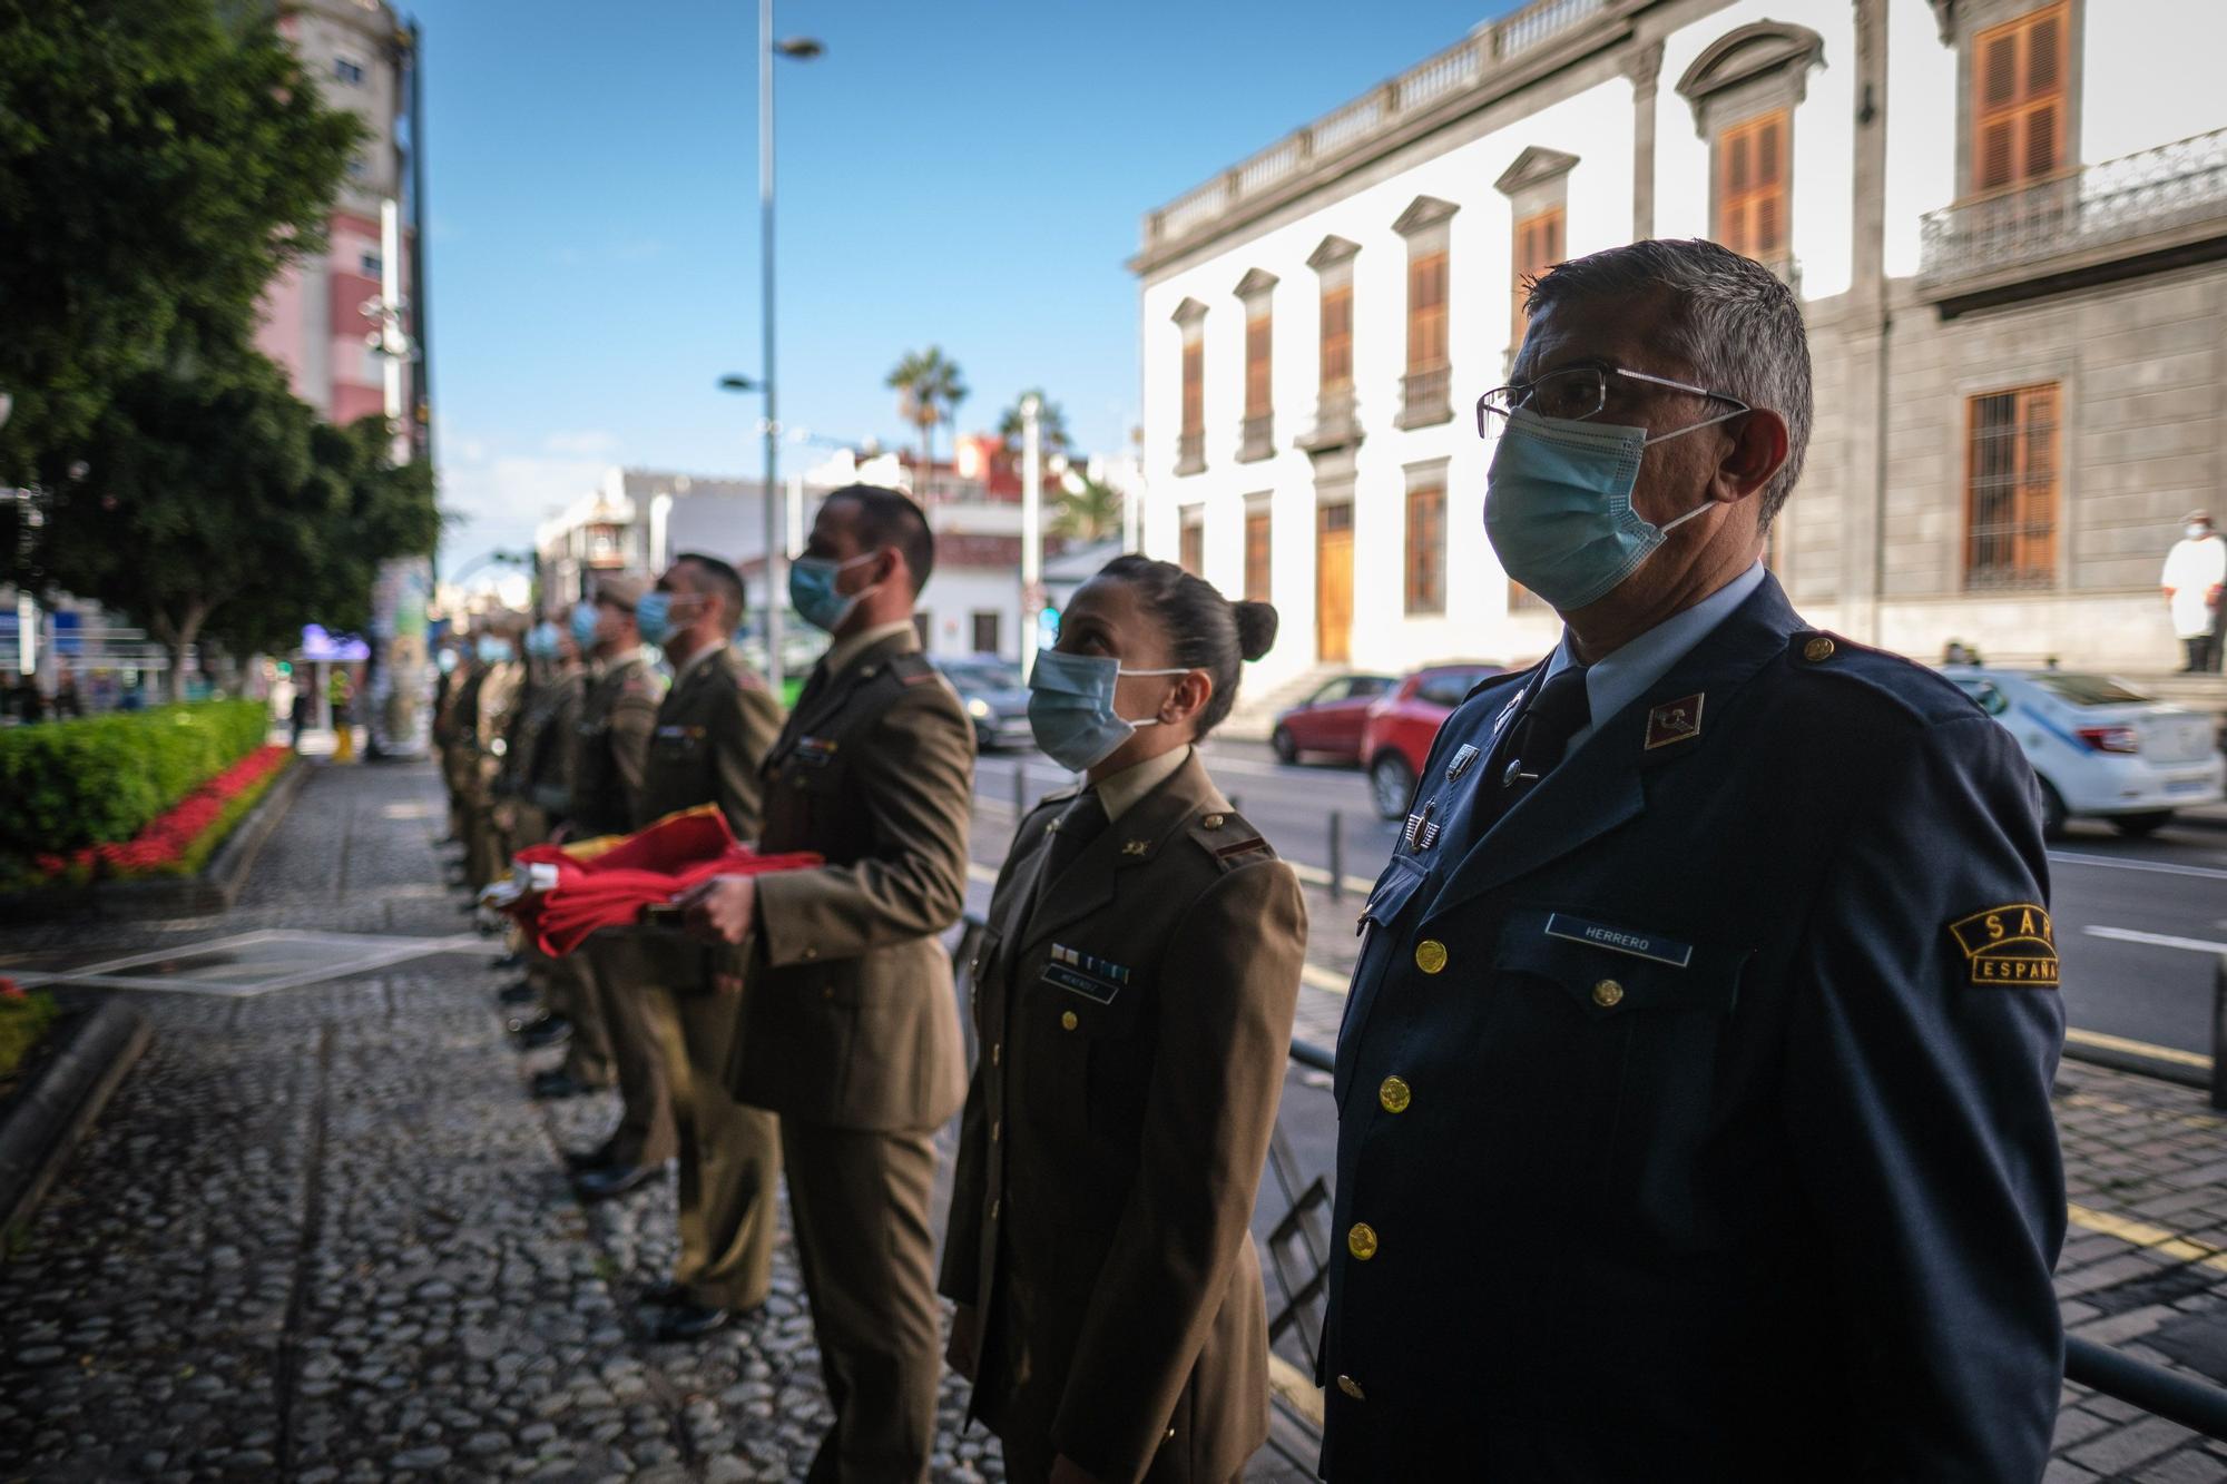
[[[1986,392],[1966,408],[1964,586],[2056,586],[2058,388]]]

